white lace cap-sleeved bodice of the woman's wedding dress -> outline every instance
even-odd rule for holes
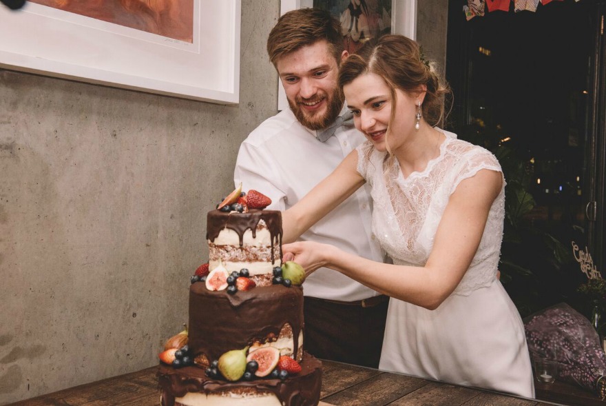
[[[437,158],[404,178],[396,159],[366,141],[357,148],[357,170],[372,187],[373,232],[397,265],[424,266],[450,195],[479,170],[502,172],[488,150],[449,132]],[[478,250],[453,294],[468,295],[494,281],[505,216],[505,181],[492,203]]]

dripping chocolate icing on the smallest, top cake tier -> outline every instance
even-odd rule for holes
[[[257,225],[263,220],[271,236],[271,263],[275,263],[273,247],[276,243],[280,247],[280,258],[282,258],[282,213],[278,210],[250,210],[247,213],[221,212],[211,210],[207,215],[206,238],[214,241],[224,228],[229,228],[240,237],[240,247],[244,245],[244,232],[251,230],[253,238],[257,236]]]

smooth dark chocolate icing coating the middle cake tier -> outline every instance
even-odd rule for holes
[[[205,354],[209,362],[231,349],[254,341],[276,338],[289,323],[293,351],[297,354],[303,328],[303,291],[300,287],[270,285],[228,294],[209,291],[204,283],[189,287],[189,348],[194,356]]]

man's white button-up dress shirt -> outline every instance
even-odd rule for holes
[[[342,113],[346,111],[342,111]],[[337,128],[322,143],[315,130],[305,128],[291,110],[284,110],[258,126],[240,145],[234,181],[242,190],[269,196],[271,210],[286,210],[331,174],[345,156],[364,141],[355,127]],[[335,245],[373,261],[384,254],[372,234],[372,203],[368,185],[360,187],[339,207],[313,225],[300,241]],[[305,296],[359,301],[377,292],[343,274],[320,268],[304,282]]]

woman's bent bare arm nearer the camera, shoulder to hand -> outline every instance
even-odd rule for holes
[[[377,263],[332,245],[284,245],[306,271],[329,267],[388,296],[436,309],[459,285],[474,257],[490,207],[502,185],[500,172],[480,170],[461,181],[439,223],[433,250],[424,267]]]

